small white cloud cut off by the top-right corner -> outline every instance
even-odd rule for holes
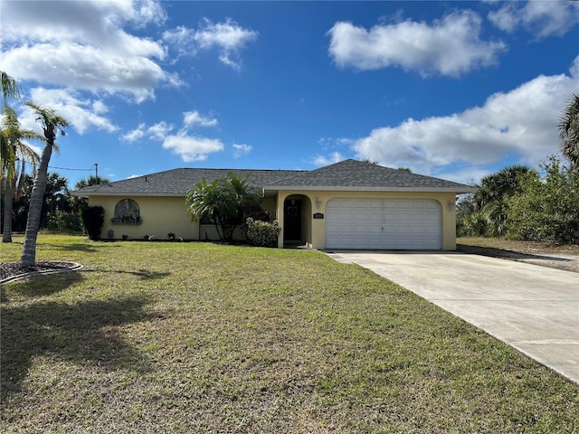
[[[525,5],[504,4],[489,13],[489,21],[500,30],[514,32],[522,26],[538,38],[561,36],[579,23],[579,3],[569,1],[530,1]]]

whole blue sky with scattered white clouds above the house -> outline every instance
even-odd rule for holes
[[[0,27],[23,102],[70,121],[51,170],[71,187],[95,163],[118,181],[346,158],[478,182],[557,153],[579,92],[571,1],[0,0]]]

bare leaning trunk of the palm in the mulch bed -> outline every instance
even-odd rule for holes
[[[44,146],[38,172],[36,172],[36,177],[34,178],[28,220],[26,221],[26,233],[24,234],[24,248],[20,257],[20,262],[23,265],[34,265],[34,262],[36,262],[36,239],[38,238],[40,215],[43,209],[44,192],[46,191],[48,163],[52,156],[53,145],[53,140],[49,140],[49,143]]]

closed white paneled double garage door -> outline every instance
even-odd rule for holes
[[[434,200],[332,199],[327,249],[440,250],[441,204]]]

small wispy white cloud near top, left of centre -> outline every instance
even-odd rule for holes
[[[178,26],[175,30],[163,33],[163,40],[176,48],[181,55],[195,55],[201,50],[219,51],[219,60],[233,69],[240,69],[239,51],[257,39],[258,33],[243,28],[231,19],[223,23],[213,23],[204,18],[199,29]],[[235,59],[234,59],[235,58]]]

